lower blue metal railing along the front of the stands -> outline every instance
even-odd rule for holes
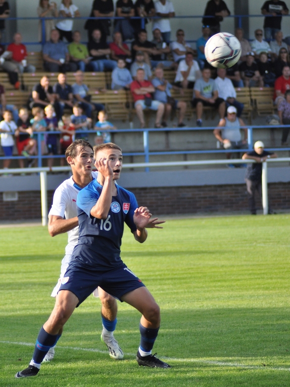
[[[284,128],[284,127],[290,127],[290,125],[275,125],[275,126],[267,126],[267,128]],[[253,142],[253,130],[265,130],[265,126],[258,126],[258,125],[249,125],[249,126],[241,126],[241,128],[247,128],[248,129],[248,148],[246,149],[197,149],[197,150],[162,150],[162,151],[151,151],[150,150],[150,133],[156,133],[156,132],[196,132],[196,131],[213,131],[215,127],[207,126],[207,127],[182,127],[182,128],[146,128],[146,129],[119,129],[119,130],[106,130],[102,131],[99,130],[98,132],[101,133],[141,133],[143,137],[143,150],[140,152],[123,152],[123,156],[143,156],[144,162],[150,162],[151,156],[157,156],[157,155],[178,155],[178,154],[211,154],[211,153],[238,153],[238,152],[249,152],[253,150],[254,142]],[[219,127],[219,129],[222,129]],[[34,134],[37,135],[37,155],[31,156],[31,159],[37,159],[37,166],[42,167],[42,160],[47,158],[64,158],[64,155],[42,155],[41,154],[41,136],[43,134],[61,134],[61,132],[35,132]],[[90,131],[76,131],[76,134],[93,134],[95,133],[94,130]],[[283,147],[283,148],[269,148],[266,147],[267,150],[270,151],[290,151],[290,147]],[[12,156],[9,157],[10,159],[26,159],[24,156]],[[2,156],[0,157],[0,160],[5,160],[7,157]],[[33,168],[31,169],[33,170]],[[146,168],[148,170],[148,168]]]

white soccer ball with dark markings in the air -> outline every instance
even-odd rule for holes
[[[240,54],[240,42],[228,32],[216,33],[205,45],[206,60],[213,67],[231,67],[239,60]]]

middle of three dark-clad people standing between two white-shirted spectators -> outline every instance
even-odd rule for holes
[[[130,18],[135,16],[135,8],[132,0],[118,0],[116,3],[116,16],[125,19],[115,20],[114,32],[121,32],[123,39],[133,39],[135,30]]]

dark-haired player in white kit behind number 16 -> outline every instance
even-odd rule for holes
[[[82,152],[85,147],[91,149],[91,154]],[[77,157],[78,156],[78,157]],[[71,254],[78,241],[78,218],[76,199],[79,191],[87,186],[98,176],[98,172],[92,171],[93,149],[86,140],[76,140],[66,151],[67,162],[71,165],[73,176],[65,180],[55,191],[52,208],[49,212],[49,233],[51,236],[68,233],[68,244],[65,249],[65,256],[62,260],[61,274],[57,285],[53,289],[52,296],[55,297],[61,286],[62,279],[71,260]],[[158,225],[164,221],[151,218],[147,227],[162,228]],[[100,287],[93,292],[95,297],[100,297],[102,302],[102,341],[107,345],[109,355],[115,360],[123,359],[123,352],[114,337],[114,330],[117,323],[117,302],[114,297],[106,293]],[[50,361],[54,358],[55,347],[51,348],[43,361]]]

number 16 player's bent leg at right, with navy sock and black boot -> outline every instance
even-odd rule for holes
[[[148,367],[170,368],[170,365],[152,355],[160,327],[160,308],[153,295],[143,286],[124,294],[121,299],[142,314],[139,325],[141,340],[136,357],[138,364]]]

